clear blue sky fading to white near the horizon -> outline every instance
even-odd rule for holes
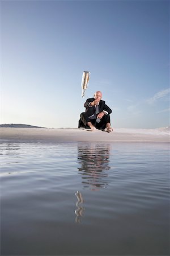
[[[169,126],[168,0],[1,1],[1,123],[78,127],[96,90],[112,127]]]

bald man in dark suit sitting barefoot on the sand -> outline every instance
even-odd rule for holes
[[[88,98],[84,103],[86,112],[80,114],[79,127],[96,129],[105,129],[108,133],[113,131],[111,127],[110,115],[112,110],[101,100],[102,93],[97,91],[94,98]]]

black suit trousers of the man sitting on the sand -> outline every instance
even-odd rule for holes
[[[111,123],[110,115],[103,115],[100,122],[96,122],[96,118],[90,119],[86,112],[80,114],[80,119],[83,122],[84,126],[87,126],[87,122],[91,122],[97,129],[105,129],[107,123]]]

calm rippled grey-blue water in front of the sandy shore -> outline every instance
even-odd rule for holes
[[[0,149],[1,255],[169,255],[168,143]]]

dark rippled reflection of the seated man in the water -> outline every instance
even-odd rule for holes
[[[84,188],[100,190],[107,187],[109,167],[109,144],[79,144],[78,170],[82,174]]]

